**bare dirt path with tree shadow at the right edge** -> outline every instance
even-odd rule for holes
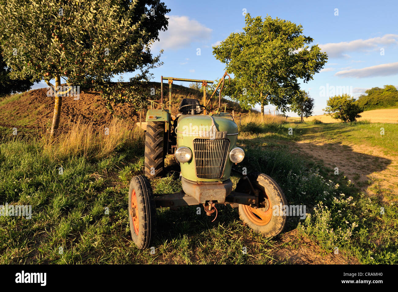
[[[398,157],[385,155],[377,147],[303,140],[293,143],[293,152],[322,161],[347,176],[362,191],[378,195],[384,202],[398,198]],[[292,145],[293,146],[293,145]]]

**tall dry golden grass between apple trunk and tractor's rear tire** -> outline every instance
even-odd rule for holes
[[[53,139],[44,133],[43,152],[62,159],[74,155],[101,159],[123,145],[136,145],[142,141],[144,131],[129,122],[114,118],[109,126],[94,128],[92,123],[69,122],[68,127]]]

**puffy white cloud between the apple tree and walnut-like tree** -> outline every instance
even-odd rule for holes
[[[193,42],[205,42],[211,37],[212,29],[205,27],[195,19],[187,16],[169,16],[167,31],[159,33],[159,42],[153,45],[158,49],[179,49],[189,46]]]

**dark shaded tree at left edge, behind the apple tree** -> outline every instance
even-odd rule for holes
[[[32,77],[26,79],[11,79],[10,72],[11,68],[8,68],[6,62],[4,62],[0,49],[0,96],[27,91],[34,82],[40,81],[31,81]]]

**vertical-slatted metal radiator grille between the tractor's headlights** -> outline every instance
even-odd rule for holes
[[[228,156],[229,139],[193,140],[197,178],[221,178]]]

